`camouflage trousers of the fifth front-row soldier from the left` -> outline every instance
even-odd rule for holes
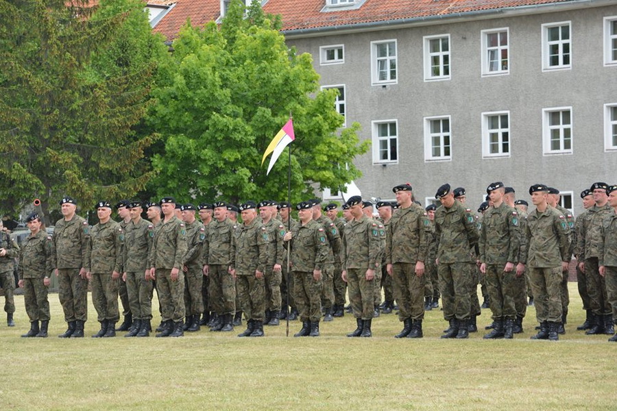
[[[161,321],[184,320],[184,273],[180,270],[178,279],[171,279],[170,269],[156,269],[156,292],[160,298]]]

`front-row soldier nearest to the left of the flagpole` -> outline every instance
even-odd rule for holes
[[[230,273],[237,277],[238,292],[247,327],[239,337],[263,337],[265,289],[263,273],[268,261],[269,238],[257,218],[257,205],[247,201],[240,206],[243,223],[234,232]]]

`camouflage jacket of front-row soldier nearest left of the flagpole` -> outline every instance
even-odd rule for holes
[[[265,272],[269,242],[266,228],[257,217],[249,225],[234,226],[230,266],[236,270],[236,275]]]

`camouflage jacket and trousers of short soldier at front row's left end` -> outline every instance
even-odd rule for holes
[[[23,279],[23,301],[30,322],[49,321],[47,286],[43,278],[51,272],[51,236],[43,230],[30,234],[19,253],[17,274]]]

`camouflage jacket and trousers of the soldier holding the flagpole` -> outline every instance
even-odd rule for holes
[[[313,270],[321,270],[326,262],[326,233],[322,225],[313,220],[305,225],[298,224],[292,233],[293,299],[303,322],[319,322],[322,316],[322,281],[315,280]]]

